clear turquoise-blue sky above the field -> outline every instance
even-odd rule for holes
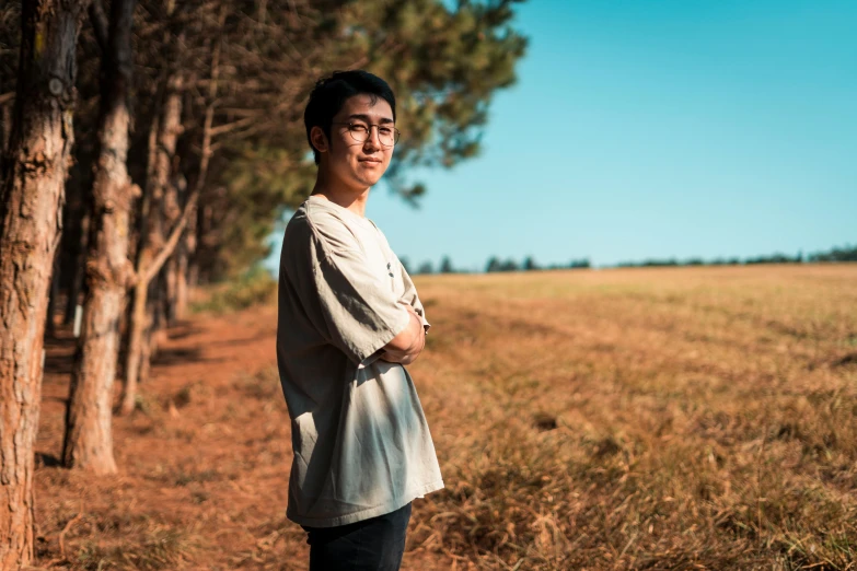
[[[516,27],[482,154],[414,173],[418,210],[372,189],[412,266],[857,244],[857,1],[530,0]]]

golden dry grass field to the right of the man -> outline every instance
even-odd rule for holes
[[[410,549],[478,569],[854,569],[857,267],[424,278],[448,489]]]

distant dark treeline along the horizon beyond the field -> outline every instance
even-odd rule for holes
[[[756,265],[756,264],[803,264],[803,263],[819,263],[819,261],[857,261],[857,246],[844,246],[842,248],[835,247],[829,252],[817,252],[814,254],[803,255],[799,252],[795,256],[788,254],[771,254],[768,256],[755,256],[751,258],[650,258],[642,261],[622,261],[616,264],[616,268],[657,268],[657,267],[670,267],[670,266],[742,266],[742,265]],[[422,273],[459,273],[468,272],[470,270],[455,269],[452,265],[452,260],[449,256],[444,256],[441,259],[437,270],[431,261],[424,261],[416,268],[410,268],[407,259],[403,259],[402,264],[408,273],[422,275]],[[532,270],[554,270],[554,269],[581,269],[591,268],[592,265],[589,258],[572,259],[567,264],[551,264],[548,266],[542,266],[535,261],[532,256],[528,256],[523,261],[519,263],[512,258],[501,259],[497,256],[488,258],[485,265],[486,272],[495,271],[532,271]]]

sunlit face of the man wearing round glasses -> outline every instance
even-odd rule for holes
[[[333,178],[358,191],[378,183],[393,156],[393,147],[383,144],[385,137],[393,135],[393,109],[383,98],[378,97],[374,104],[371,96],[363,94],[346,100],[334,116],[331,140],[323,154]],[[366,141],[356,140],[364,138],[367,130]],[[313,142],[322,150],[317,137],[323,138],[324,133],[315,127]]]

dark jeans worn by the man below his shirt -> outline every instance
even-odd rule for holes
[[[395,512],[336,527],[303,527],[310,571],[398,571],[410,503]]]

